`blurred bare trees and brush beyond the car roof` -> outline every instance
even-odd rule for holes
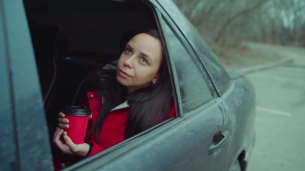
[[[243,41],[305,46],[305,0],[174,0],[217,55]]]

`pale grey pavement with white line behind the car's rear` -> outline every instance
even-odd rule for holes
[[[305,170],[305,67],[247,74],[256,88],[256,143],[248,171]]]

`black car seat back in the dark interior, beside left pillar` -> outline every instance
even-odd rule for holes
[[[31,28],[31,35],[41,91],[45,108],[48,108],[46,104],[50,99],[50,87],[54,82],[56,76],[54,73],[57,69],[54,64],[56,64],[56,59],[63,55],[68,45],[60,25],[36,25]]]

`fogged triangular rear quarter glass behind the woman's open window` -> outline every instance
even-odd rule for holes
[[[212,98],[203,73],[167,23],[164,22],[166,44],[178,77],[183,112],[186,113]]]

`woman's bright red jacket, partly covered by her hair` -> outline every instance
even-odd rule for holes
[[[97,118],[97,115],[99,114],[99,110],[101,107],[101,99],[94,91],[88,91],[87,98],[89,108],[92,113],[92,123],[94,123]],[[174,100],[172,99],[168,118],[174,117],[175,115],[176,109]],[[128,106],[111,111],[104,119],[103,125],[99,133],[98,142],[94,140],[93,135],[87,139],[87,143],[93,145],[88,157],[125,140],[124,135],[127,118]],[[160,120],[160,122],[161,121],[162,119]],[[87,130],[90,130],[91,126],[92,124],[88,126]]]

